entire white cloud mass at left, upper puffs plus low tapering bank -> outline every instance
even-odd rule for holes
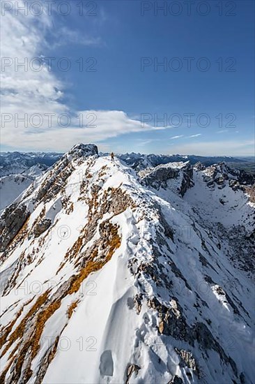
[[[1,73],[2,145],[13,149],[65,151],[77,142],[102,142],[120,134],[166,128],[141,124],[118,110],[72,111],[61,102],[63,83],[47,66],[33,71],[33,66],[28,65],[26,70],[19,67],[15,71],[15,60],[30,63],[35,57],[47,57],[45,36],[50,27],[47,15],[36,17],[19,13],[15,16],[6,12],[2,17],[1,53],[6,57],[6,64],[11,64]],[[65,33],[73,41],[78,38],[77,32],[65,29]],[[66,126],[63,126],[65,119],[62,124],[58,121],[63,113],[70,117]],[[33,114],[37,117],[33,118]],[[83,124],[79,124],[78,115],[84,117]],[[17,121],[22,118],[27,124]],[[41,124],[36,127],[38,121]]]

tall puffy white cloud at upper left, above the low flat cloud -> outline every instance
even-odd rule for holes
[[[45,47],[45,31],[51,25],[49,17],[6,12],[1,21],[2,114],[64,112],[66,107],[60,103],[63,84],[48,68],[37,71],[38,61],[33,61]],[[22,63],[25,66],[19,65]],[[5,133],[8,135],[8,131]]]

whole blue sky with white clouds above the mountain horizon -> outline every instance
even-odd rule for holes
[[[55,1],[50,15],[42,1],[38,16],[15,15],[14,3],[2,13],[2,55],[44,66],[1,74],[2,151],[95,142],[114,152],[254,154],[254,1],[188,2],[190,15],[183,1],[84,1],[83,15],[81,1]],[[24,113],[27,126],[16,121]]]

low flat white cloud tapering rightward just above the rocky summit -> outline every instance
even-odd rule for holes
[[[66,151],[77,142],[99,143],[125,133],[159,129],[144,123],[141,126],[141,121],[130,119],[123,111],[88,110],[80,112],[79,118],[77,116],[70,117],[70,126],[67,128],[57,127],[58,115],[52,118],[52,128],[24,128],[22,121],[17,129],[13,126],[13,121],[10,121],[4,128],[6,135],[3,144],[11,146],[17,142],[24,149]],[[45,123],[49,121],[43,114],[42,118]],[[63,119],[63,124],[65,121],[67,120]]]

